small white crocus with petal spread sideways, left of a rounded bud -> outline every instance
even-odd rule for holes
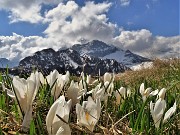
[[[144,88],[144,83],[141,84],[139,91],[140,91],[140,93],[142,95],[142,99],[143,99],[144,102],[146,101],[146,99],[149,96],[155,96],[155,95],[158,94],[158,90],[152,91],[151,88],[145,89]]]

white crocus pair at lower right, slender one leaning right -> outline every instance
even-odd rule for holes
[[[166,109],[166,101],[164,99],[159,98],[156,101],[155,105],[152,103],[152,101],[150,102],[150,111],[156,128],[159,128],[165,109]],[[165,113],[163,123],[165,123],[167,119],[170,118],[175,111],[176,111],[176,102],[174,103],[173,107],[171,107]]]

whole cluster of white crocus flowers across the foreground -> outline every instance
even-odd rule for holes
[[[48,76],[43,76],[41,72],[36,71],[31,73],[27,79],[14,76],[12,90],[3,85],[7,95],[19,103],[20,112],[23,115],[22,130],[29,129],[33,101],[42,85],[50,87],[50,93],[54,99],[46,116],[49,135],[71,134],[69,117],[73,109],[76,112],[77,124],[93,132],[101,116],[102,102],[106,107],[109,97],[114,96],[116,105],[121,105],[132,95],[132,91],[125,87],[114,90],[114,74],[105,73],[102,79],[93,80],[90,75],[85,76],[84,73],[81,73],[80,78],[78,82],[71,80],[68,71],[62,75],[54,70]],[[157,96],[155,103],[150,101],[149,105],[156,128],[159,128],[160,123],[165,123],[176,111],[175,102],[173,107],[165,113],[165,88],[153,91],[152,88],[145,89],[144,83],[142,83],[139,92],[144,103],[149,97]]]

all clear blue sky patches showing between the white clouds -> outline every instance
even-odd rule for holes
[[[83,6],[83,0],[76,0]],[[95,0],[95,3],[103,0]],[[179,35],[179,0],[132,0],[127,6],[122,6],[120,0],[112,0],[112,6],[107,13],[110,22],[126,30],[148,29],[153,35]],[[43,11],[53,6],[43,6]],[[0,35],[11,35],[12,32],[29,36],[43,35],[47,24],[32,24],[29,22],[9,23],[10,11],[0,10]]]

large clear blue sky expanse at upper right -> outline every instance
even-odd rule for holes
[[[118,1],[109,18],[125,29],[145,28],[154,35],[175,36],[179,34],[179,0],[133,0],[126,7]]]

